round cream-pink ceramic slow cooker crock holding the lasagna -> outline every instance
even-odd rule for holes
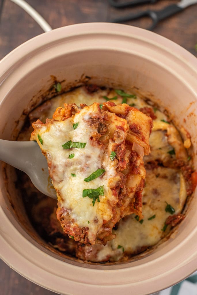
[[[26,114],[52,85],[50,75],[64,80],[64,86],[87,75],[99,84],[136,86],[153,94],[189,130],[196,152],[196,69],[196,58],[186,50],[136,27],[88,23],[53,30],[19,46],[0,62],[0,137],[13,138],[23,110]],[[178,231],[148,256],[126,264],[95,266],[62,258],[47,250],[44,242],[37,242],[17,201],[14,177],[6,180],[8,194],[1,169],[1,258],[29,280],[60,294],[144,295],[196,270],[197,198]],[[9,198],[17,210],[21,206],[20,218]]]

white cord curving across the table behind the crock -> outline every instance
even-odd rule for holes
[[[52,27],[41,17],[41,15],[34,9],[32,6],[30,6],[26,1],[24,0],[11,0],[21,8],[23,8],[44,30],[45,32],[49,32],[52,30]]]

